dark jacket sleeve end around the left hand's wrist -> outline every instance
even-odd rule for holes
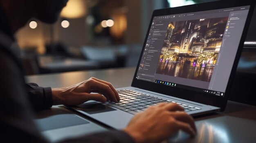
[[[35,83],[26,84],[29,101],[36,111],[52,107],[52,88],[40,87]]]

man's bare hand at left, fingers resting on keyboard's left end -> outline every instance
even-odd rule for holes
[[[90,94],[96,92],[98,94]],[[94,77],[65,88],[52,89],[53,105],[79,105],[89,100],[106,102],[120,101],[117,90],[107,81]]]

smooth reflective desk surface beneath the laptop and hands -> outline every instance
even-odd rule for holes
[[[56,88],[71,86],[90,77],[97,77],[111,82],[115,88],[120,88],[130,86],[134,72],[135,68],[119,68],[32,75],[27,76],[26,79],[27,82],[36,82],[40,86]],[[54,110],[38,112],[37,116],[43,118],[59,112],[72,111],[54,106]],[[171,141],[177,143],[254,143],[256,141],[255,106],[228,101],[225,112],[196,117],[195,123],[198,129],[198,135],[195,138],[189,139],[189,136],[179,132]]]

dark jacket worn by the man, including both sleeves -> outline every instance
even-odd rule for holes
[[[52,107],[52,89],[25,84],[14,41],[0,9],[0,143],[47,143],[34,123],[33,113]],[[109,131],[62,142],[131,143],[133,140],[125,132]]]

